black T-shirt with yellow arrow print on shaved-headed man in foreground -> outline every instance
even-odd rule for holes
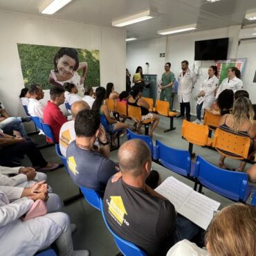
[[[152,196],[122,179],[107,183],[104,213],[117,235],[136,244],[149,256],[163,256],[173,245],[176,211],[166,199]]]

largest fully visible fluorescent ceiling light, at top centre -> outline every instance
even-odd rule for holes
[[[112,26],[123,27],[123,26],[140,22],[140,21],[145,21],[147,19],[152,19],[155,16],[156,16],[156,12],[152,12],[151,10],[146,10],[145,12],[140,12],[140,13],[137,13],[136,15],[131,15],[129,17],[112,21]]]

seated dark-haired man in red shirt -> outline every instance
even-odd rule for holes
[[[54,86],[50,89],[50,95],[51,100],[48,100],[46,107],[44,107],[44,123],[51,127],[55,143],[59,143],[60,128],[65,122],[68,122],[59,107],[65,100],[64,89],[60,86]],[[52,142],[48,138],[46,140]]]

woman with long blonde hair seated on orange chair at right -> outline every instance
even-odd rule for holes
[[[250,152],[256,150],[256,124],[253,120],[253,105],[246,97],[240,97],[235,101],[232,113],[222,116],[219,120],[219,128],[224,131],[246,136],[251,139]],[[228,169],[224,164],[226,156],[221,155],[219,158],[219,167]],[[244,171],[246,162],[241,161],[241,165],[236,169],[239,172]]]

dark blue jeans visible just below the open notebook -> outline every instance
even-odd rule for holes
[[[195,223],[178,215],[177,226],[174,232],[174,244],[183,239],[191,240],[199,232],[199,229],[199,226]]]

